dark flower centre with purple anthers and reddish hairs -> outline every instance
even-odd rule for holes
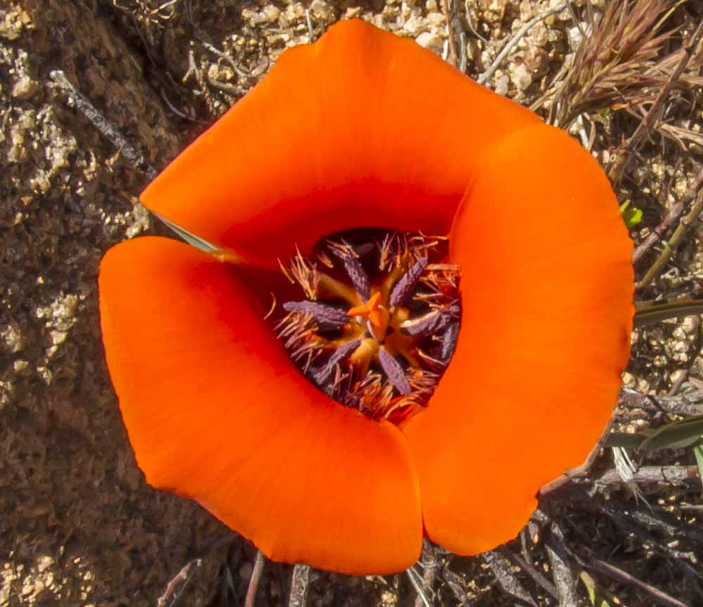
[[[396,424],[427,405],[456,346],[459,268],[446,237],[351,230],[281,270],[302,289],[276,334],[319,389]]]

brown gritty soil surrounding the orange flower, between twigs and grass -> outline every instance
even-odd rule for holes
[[[557,3],[477,0],[465,3],[467,11],[463,2],[453,4],[467,36],[466,71],[477,77],[524,22]],[[572,4],[583,15],[582,1]],[[603,5],[593,2],[596,10]],[[442,7],[441,0],[0,1],[0,606],[151,606],[169,580],[200,557],[188,570],[180,604],[243,601],[255,549],[237,537],[223,541],[228,530],[219,521],[192,502],[153,490],[136,467],[103,358],[98,263],[117,242],[155,230],[138,203],[148,183],[144,168],[165,167],[254,86],[285,48],[310,41],[311,33],[318,37],[340,18],[361,17],[442,54],[448,37]],[[687,6],[678,10],[695,14]],[[530,105],[580,40],[572,12],[564,8],[538,22],[486,84]],[[700,75],[697,65],[690,73]],[[96,129],[75,96],[57,84],[56,70],[143,157],[141,167]],[[683,138],[683,150],[660,133],[652,136],[618,192],[644,211],[632,232],[636,242],[691,188],[696,173],[688,159],[702,159],[703,148],[695,143],[703,123],[699,93],[677,89],[676,99],[683,101],[671,106],[671,124],[694,134]],[[631,115],[614,123],[598,129],[593,149],[601,160],[636,124]],[[696,221],[639,299],[699,295],[702,237],[703,224]],[[645,256],[639,278],[660,251],[654,247]],[[657,395],[684,374],[677,389],[700,388],[700,317],[669,320],[633,338],[626,386]],[[621,429],[651,422],[645,415]],[[609,455],[602,457],[601,469],[612,467],[609,462]],[[690,450],[673,450],[652,462],[695,460]],[[618,491],[626,504],[634,503],[626,490]],[[676,525],[700,531],[697,511],[681,509],[701,504],[700,493],[700,483],[667,485],[647,497],[666,507]],[[687,604],[702,596],[699,581],[679,583],[680,573],[662,567],[669,563],[666,555],[613,522],[605,512],[609,495],[594,500],[586,513],[565,498],[565,516],[579,523],[580,531],[569,532],[574,542],[587,542],[590,534],[601,548],[626,544],[642,559],[637,571],[647,583]],[[699,536],[687,537],[679,543],[702,554]],[[549,569],[551,561],[542,551],[536,562]],[[437,604],[460,604],[461,597],[466,604],[515,603],[488,561],[443,556],[442,563]],[[607,577],[601,581],[623,602],[649,604],[647,594]],[[283,604],[288,585],[290,567],[269,563],[257,604]],[[540,604],[555,604],[543,590],[533,592]],[[579,602],[587,604],[586,596],[579,586]],[[308,604],[413,601],[404,575],[313,572]]]

